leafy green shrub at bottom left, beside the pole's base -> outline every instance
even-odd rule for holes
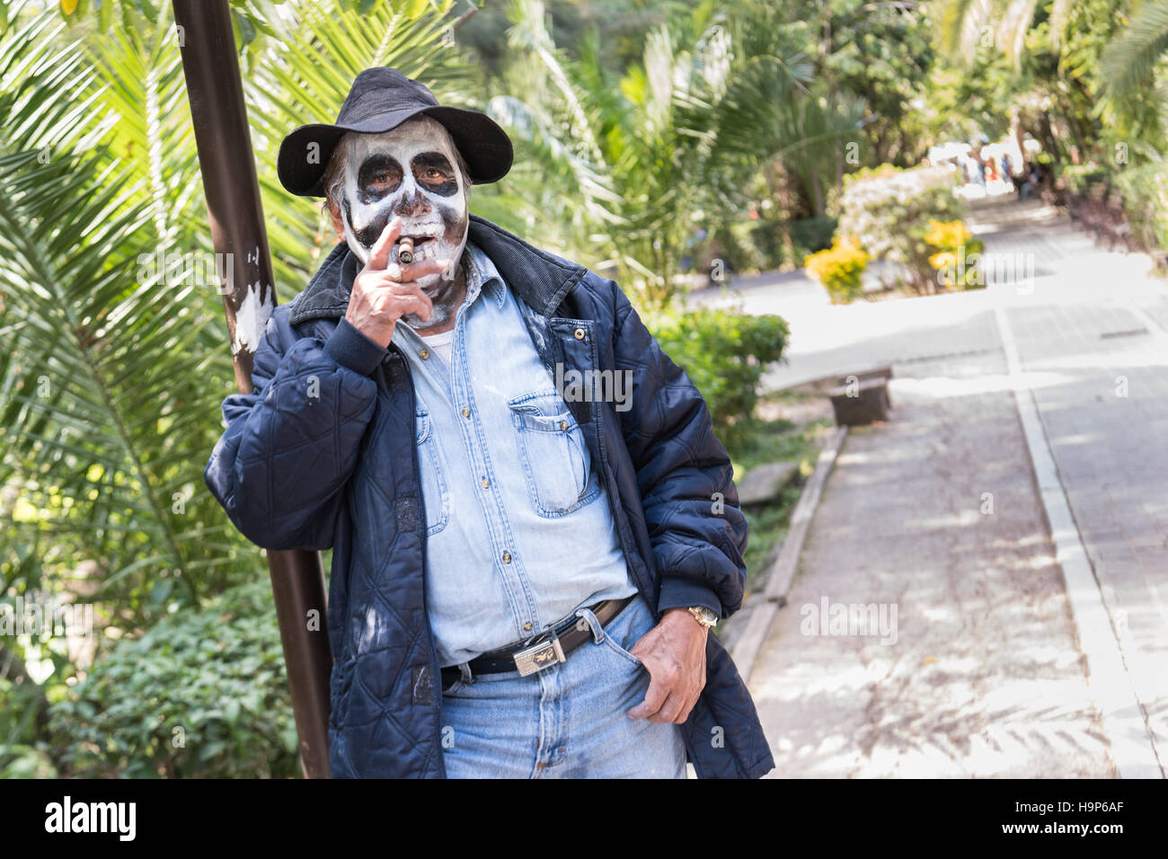
[[[50,707],[49,730],[64,775],[297,775],[267,576],[114,644]]]

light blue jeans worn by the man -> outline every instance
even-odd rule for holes
[[[655,625],[641,596],[568,661],[521,677],[480,674],[443,693],[443,755],[451,778],[684,778],[681,726],[630,719],[649,673],[628,652]]]

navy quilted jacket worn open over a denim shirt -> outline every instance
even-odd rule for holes
[[[522,299],[550,373],[557,362],[565,374],[633,373],[628,411],[604,402],[569,408],[640,593],[654,607],[707,602],[723,616],[736,611],[746,522],[729,457],[689,377],[613,280],[475,215],[470,240]],[[333,777],[443,777],[413,385],[395,346],[378,347],[342,318],[357,268],[338,244],[304,292],[274,310],[255,356],[255,390],[223,402],[227,430],[204,479],[258,546],[333,549]],[[565,563],[570,557],[566,549]],[[759,777],[774,764],[753,701],[718,639],[708,642],[705,688],[683,726],[689,758],[703,778]]]

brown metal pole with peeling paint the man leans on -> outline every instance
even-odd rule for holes
[[[211,241],[230,261],[234,289],[223,296],[235,349],[235,379],[250,393],[253,338],[236,337],[236,312],[258,288],[260,307],[276,306],[272,262],[248,132],[239,61],[228,0],[174,0],[182,71],[199,145]],[[223,272],[221,272],[223,273]],[[253,289],[253,292],[257,290]],[[256,296],[252,296],[256,302]],[[250,347],[244,345],[250,344]],[[328,678],[333,656],[326,624],[325,573],[319,552],[269,552],[276,616],[287,665],[300,762],[308,778],[328,777]],[[315,614],[313,614],[315,612]],[[315,618],[314,624],[310,619]],[[310,629],[311,625],[311,629]]]

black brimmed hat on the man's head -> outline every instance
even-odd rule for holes
[[[473,185],[496,182],[507,175],[514,154],[510,138],[491,117],[440,105],[424,84],[397,69],[378,67],[356,76],[335,124],[301,125],[284,138],[276,161],[280,182],[299,196],[325,196],[325,169],[345,132],[381,133],[419,113],[446,127],[471,171]],[[318,148],[310,150],[311,144]]]

